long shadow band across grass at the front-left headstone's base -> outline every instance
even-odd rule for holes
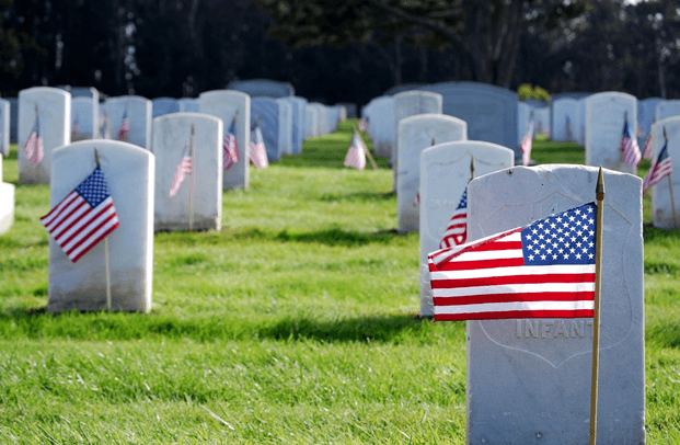
[[[461,335],[464,323],[446,323]],[[430,339],[430,319],[384,315],[321,320],[311,317],[251,321],[223,317],[177,319],[154,313],[79,312],[47,313],[45,308],[5,309],[0,315],[0,338],[106,340],[262,340],[319,342],[400,342]],[[459,332],[460,331],[460,332]]]

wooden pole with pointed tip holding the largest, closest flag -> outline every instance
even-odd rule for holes
[[[592,315],[592,374],[590,377],[590,445],[596,444],[598,418],[598,375],[600,369],[600,294],[602,292],[602,216],[604,213],[604,180],[602,167],[595,190],[597,197],[597,218],[595,238],[595,310]]]

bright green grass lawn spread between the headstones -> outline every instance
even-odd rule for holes
[[[154,237],[150,315],[47,315],[45,185],[0,237],[0,443],[463,444],[464,323],[419,320],[392,171],[350,123],[223,193],[221,232]],[[534,142],[539,163],[583,163]],[[639,174],[644,174],[643,164]],[[4,159],[16,184],[16,147]],[[680,443],[680,233],[645,218],[647,440]]]

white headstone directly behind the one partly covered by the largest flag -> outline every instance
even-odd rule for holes
[[[419,225],[420,151],[431,147],[433,140],[435,144],[466,140],[468,124],[443,114],[416,114],[400,121],[396,135],[396,221],[397,230],[405,232],[417,230]]]

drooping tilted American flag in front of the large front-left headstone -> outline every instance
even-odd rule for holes
[[[73,263],[118,227],[118,215],[102,169],[69,193],[41,222]]]

